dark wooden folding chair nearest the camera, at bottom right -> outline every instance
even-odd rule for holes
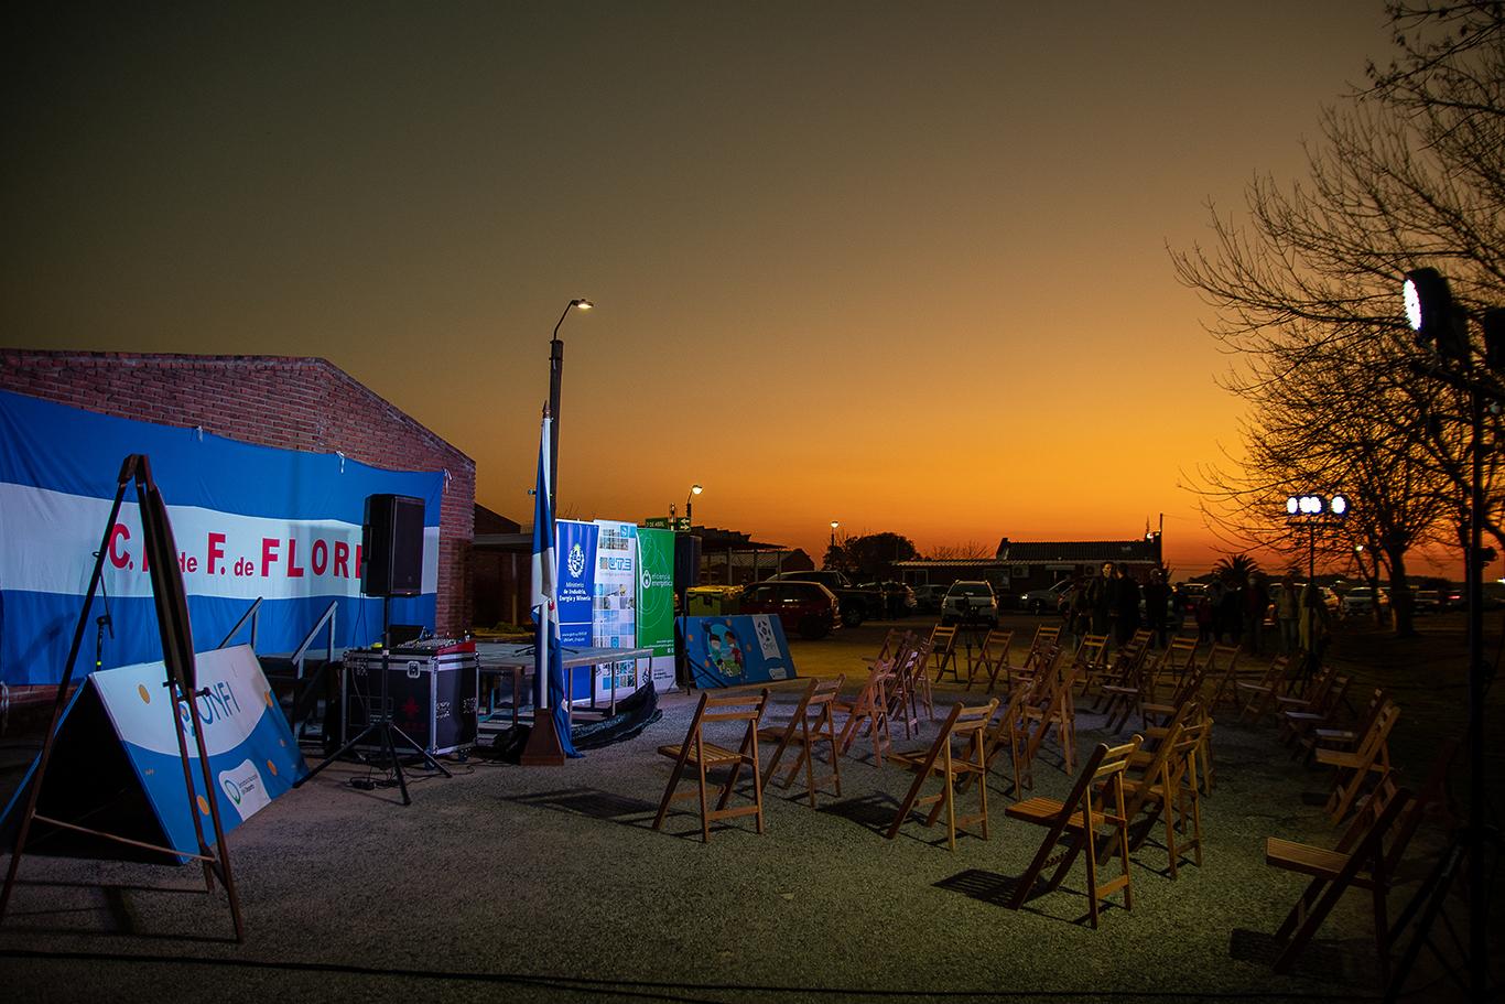
[[[1353,887],[1370,893],[1380,980],[1389,984],[1391,926],[1386,899],[1395,866],[1406,850],[1410,834],[1415,832],[1415,825],[1400,825],[1403,813],[1413,804],[1409,789],[1394,789],[1386,784],[1368,799],[1365,810],[1353,819],[1332,850],[1279,837],[1264,841],[1266,864],[1311,876],[1296,906],[1275,932],[1275,942],[1281,947],[1275,959],[1276,972],[1287,972],[1291,968],[1344,891]]]

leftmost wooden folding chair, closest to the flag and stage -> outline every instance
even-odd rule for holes
[[[661,754],[674,760],[674,772],[670,774],[668,787],[664,789],[664,801],[659,804],[658,816],[653,819],[653,829],[664,825],[664,816],[668,814],[670,802],[677,798],[695,798],[698,795],[701,840],[710,840],[712,820],[733,819],[736,816],[757,816],[757,831],[763,832],[763,778],[757,759],[757,729],[766,704],[768,689],[763,689],[757,695],[701,692],[695,716],[689,721],[689,732],[685,733],[685,742],[659,747]],[[727,723],[728,727],[733,723],[743,723],[742,742],[736,750],[706,739],[706,726],[719,723]],[[737,775],[743,766],[752,769],[752,793],[749,795],[752,804],[727,808],[727,801],[731,798]],[[680,777],[686,768],[697,772],[695,790],[677,792],[674,789],[679,787]],[[709,807],[706,790],[706,772],[712,768],[730,768],[727,780],[721,786],[721,793],[716,798],[715,808]]]

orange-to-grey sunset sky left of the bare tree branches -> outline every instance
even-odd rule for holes
[[[119,8],[128,9],[119,9]],[[1389,59],[1379,0],[8,14],[3,343],[324,357],[531,521],[1133,537],[1237,444],[1166,245]]]

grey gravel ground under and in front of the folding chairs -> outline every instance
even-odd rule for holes
[[[927,628],[914,622],[915,628]],[[882,626],[796,643],[807,674],[846,671]],[[960,697],[938,689],[938,704]],[[781,704],[793,694],[781,691]],[[1219,723],[1218,784],[1202,801],[1204,863],[1165,873],[1151,838],[1135,853],[1133,908],[1087,923],[1082,866],[1025,909],[1002,905],[1043,831],[1011,819],[1001,777],[989,840],[909,822],[882,831],[911,775],[858,745],[841,795],[810,808],[771,787],[751,819],[701,843],[694,801],[650,829],[668,778],[659,744],[683,738],[695,695],[662,701],[638,739],[561,768],[456,765],[421,777],[414,804],[337,765],[230,837],[247,939],[199,873],[27,856],[0,926],[5,999],[217,1001],[861,1001],[1361,999],[1377,995],[1367,899],[1348,894],[1296,972],[1270,968],[1270,932],[1303,882],[1264,864],[1267,835],[1330,844],[1327,775],[1293,762],[1273,727]],[[1225,715],[1225,718],[1228,718]],[[1079,753],[1105,736],[1079,715]],[[927,726],[926,736],[933,736]],[[921,741],[895,742],[914,748]],[[0,777],[9,796],[15,772]],[[1070,778],[1054,750],[1035,792]],[[1314,804],[1315,802],[1315,804]],[[1442,835],[1422,831],[1398,909]],[[1121,902],[1121,897],[1115,897]],[[1410,999],[1457,998],[1424,957]]]

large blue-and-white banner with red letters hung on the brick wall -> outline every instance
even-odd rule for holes
[[[382,601],[360,587],[367,495],[424,501],[421,596],[394,623],[433,626],[444,473],[385,471],[340,455],[251,446],[199,429],[113,418],[0,391],[0,680],[56,683],[105,534],[120,462],[144,453],[167,503],[194,647],[211,649],[260,598],[257,649],[289,652],[331,604],[339,646],[381,637]],[[135,488],[110,527],[104,595],[75,671],[161,658]],[[105,599],[107,598],[107,599]],[[250,629],[236,640],[250,640]]]

